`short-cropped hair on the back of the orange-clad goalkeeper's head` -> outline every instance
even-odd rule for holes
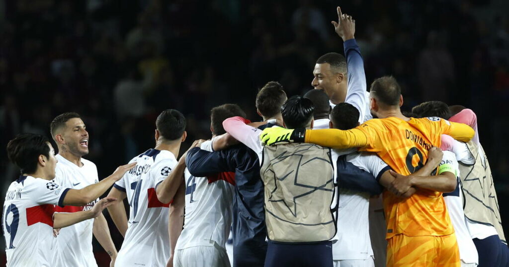
[[[400,104],[401,87],[392,76],[383,76],[371,83],[370,92],[373,97],[385,105],[398,106]]]

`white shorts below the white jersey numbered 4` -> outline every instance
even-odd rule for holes
[[[175,250],[174,267],[230,267],[225,249],[219,245]]]

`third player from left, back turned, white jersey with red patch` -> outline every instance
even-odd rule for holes
[[[179,111],[161,112],[156,120],[154,149],[134,157],[131,162],[137,166],[109,192],[108,196],[118,201],[108,207],[108,212],[124,236],[115,266],[164,266],[170,257],[168,207],[180,186],[173,170],[186,138],[185,127],[185,117]],[[122,202],[126,197],[129,220]]]

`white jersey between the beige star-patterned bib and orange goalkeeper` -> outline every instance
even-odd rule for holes
[[[338,153],[340,152],[340,153]],[[332,150],[332,162],[336,169],[338,156],[351,150]],[[372,153],[351,153],[346,156],[347,162],[378,177],[389,169],[387,164]],[[334,171],[334,179],[337,179]],[[337,232],[332,244],[332,258],[334,260],[363,260],[373,257],[370,240],[369,206],[370,194],[348,189],[340,190],[337,217]]]

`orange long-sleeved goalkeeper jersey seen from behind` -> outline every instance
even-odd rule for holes
[[[308,130],[305,141],[334,148],[359,147],[377,153],[394,171],[409,175],[428,159],[428,151],[440,146],[440,135],[448,134],[461,141],[470,140],[474,131],[467,125],[438,117],[398,117],[373,119],[347,131]],[[386,238],[404,233],[408,236],[448,235],[454,232],[441,192],[418,189],[402,199],[385,191]]]

